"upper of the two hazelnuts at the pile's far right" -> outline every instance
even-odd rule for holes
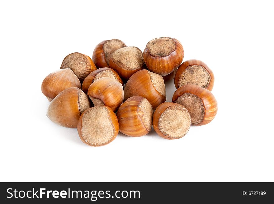
[[[185,84],[196,84],[211,91],[214,85],[214,75],[204,62],[187,60],[179,66],[174,84],[176,89]]]

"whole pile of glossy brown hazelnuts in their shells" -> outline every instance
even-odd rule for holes
[[[113,39],[99,43],[92,59],[69,54],[42,82],[47,116],[77,128],[91,146],[110,143],[119,131],[143,136],[152,126],[163,138],[182,138],[191,124],[205,125],[217,113],[213,72],[199,60],[182,63],[183,57],[181,43],[171,37],[149,41],[144,53]],[[168,103],[164,81],[171,79],[177,90]]]

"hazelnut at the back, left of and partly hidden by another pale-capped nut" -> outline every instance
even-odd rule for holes
[[[92,55],[92,60],[96,67],[109,67],[109,59],[111,54],[122,47],[126,47],[125,43],[117,39],[104,40],[100,42],[95,47]]]

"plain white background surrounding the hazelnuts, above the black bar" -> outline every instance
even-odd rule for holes
[[[0,181],[274,182],[271,1],[2,1],[0,19]],[[144,50],[162,36],[213,70],[210,124],[90,147],[46,117],[41,82],[65,56],[92,57],[113,38]]]

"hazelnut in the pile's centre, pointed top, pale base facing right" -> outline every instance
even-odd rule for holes
[[[124,100],[137,95],[146,98],[153,109],[166,101],[163,77],[149,70],[140,70],[132,75],[125,85],[124,93]]]

